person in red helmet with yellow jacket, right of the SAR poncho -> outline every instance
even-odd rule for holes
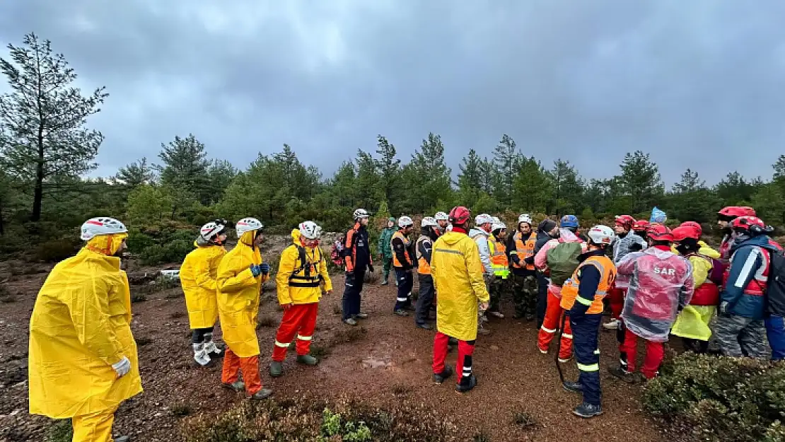
[[[720,303],[720,290],[717,284],[709,279],[713,265],[710,258],[719,258],[719,253],[705,243],[702,246],[699,232],[692,226],[681,225],[674,228],[673,233],[677,252],[692,264],[695,293],[692,294],[689,305],[679,312],[670,333],[681,337],[685,349],[695,353],[707,353],[711,338],[709,323]],[[713,251],[714,256],[707,256],[707,249]]]

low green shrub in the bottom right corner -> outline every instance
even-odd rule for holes
[[[785,363],[684,353],[661,372],[644,390],[644,407],[692,428],[696,440],[753,442],[785,434]]]

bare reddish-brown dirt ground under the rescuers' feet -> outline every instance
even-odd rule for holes
[[[48,418],[27,414],[26,382],[29,317],[49,268],[0,263],[0,283],[10,294],[10,299],[0,304],[0,442],[41,441],[52,425]],[[319,307],[314,345],[335,342],[336,334],[349,328],[339,315],[343,276],[334,276],[334,285],[336,292],[324,297]],[[132,287],[132,294],[135,290],[139,287]],[[271,319],[268,322],[272,325],[258,331],[262,378],[275,390],[276,399],[309,393],[326,400],[348,396],[385,406],[403,395],[482,431],[490,440],[664,440],[655,423],[641,411],[637,401],[641,387],[618,382],[605,371],[617,358],[612,333],[601,334],[605,413],[582,420],[571,414],[580,396],[560,388],[553,354],[541,355],[535,348],[535,323],[509,316],[492,320],[493,334],[477,339],[476,389],[459,395],[453,389],[454,379],[434,385],[430,369],[433,332],[415,328],[411,317],[392,314],[395,290],[392,284],[367,286],[363,311],[370,318],[361,322],[366,332],[353,342],[332,345],[317,367],[297,366],[291,352],[284,376],[277,379],[269,377],[267,365],[282,313],[275,294],[265,293],[259,316]],[[176,442],[184,440],[184,420],[215,414],[244,399],[221,389],[220,367],[192,364],[181,290],[157,291],[147,297],[147,301],[133,304],[132,324],[139,343],[144,393],[119,409],[115,434],[130,434],[134,440]],[[512,305],[504,305],[503,311],[512,313]],[[455,364],[455,356],[456,352],[448,356],[449,363]],[[575,363],[565,365],[568,377],[575,378]],[[188,416],[176,417],[185,414],[181,412],[183,405]],[[517,426],[514,416],[520,412],[535,418],[536,426]]]

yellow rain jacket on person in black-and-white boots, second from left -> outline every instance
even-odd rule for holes
[[[218,264],[226,254],[224,247],[214,244],[194,246],[180,266],[180,283],[192,330],[213,327],[218,319]]]

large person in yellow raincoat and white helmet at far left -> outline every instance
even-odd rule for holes
[[[111,442],[115,411],[142,392],[120,269],[127,232],[113,218],[86,221],[85,247],[52,269],[30,318],[30,413],[71,418],[74,442]]]

